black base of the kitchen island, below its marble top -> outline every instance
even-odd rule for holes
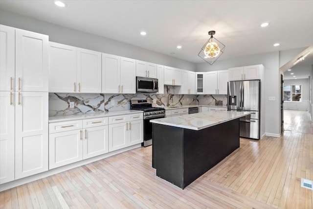
[[[184,188],[239,148],[239,119],[199,131],[154,124],[156,176]]]

